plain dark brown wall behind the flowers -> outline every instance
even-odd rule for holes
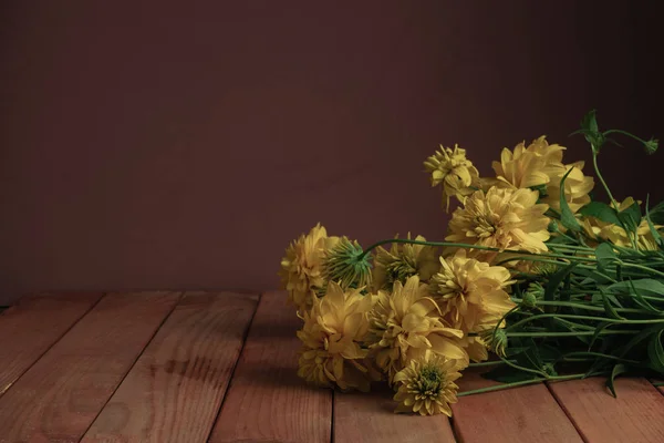
[[[0,302],[273,288],[319,220],[442,237],[438,143],[488,173],[540,134],[587,156],[567,135],[591,107],[662,136],[654,7],[540,3],[3,2]],[[626,157],[612,181],[644,194],[662,155]]]

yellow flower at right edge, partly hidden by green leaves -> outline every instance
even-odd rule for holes
[[[635,202],[634,198],[627,197],[619,204],[619,213],[626,210],[634,203],[641,204],[641,202]],[[581,227],[583,228],[585,235],[591,239],[594,238],[596,240],[611,241],[615,246],[621,246],[625,248],[632,247],[632,241],[627,236],[627,233],[622,228],[622,226],[611,224],[608,222],[600,220],[595,217],[583,217],[581,220]],[[654,228],[656,230],[662,229],[664,226],[655,225]],[[596,241],[589,241],[591,246],[595,246]],[[653,237],[653,233],[650,229],[647,220],[644,218],[641,220],[639,227],[636,228],[636,247],[640,250],[657,250],[658,246]]]

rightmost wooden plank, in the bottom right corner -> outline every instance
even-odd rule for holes
[[[551,383],[550,389],[588,442],[664,442],[664,396],[647,380],[605,378]]]

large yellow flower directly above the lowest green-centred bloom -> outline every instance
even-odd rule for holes
[[[394,374],[424,351],[468,364],[468,354],[459,344],[464,333],[449,328],[440,317],[427,285],[418,276],[394,284],[392,293],[378,291],[377,302],[370,315],[367,341],[376,364],[392,383]]]

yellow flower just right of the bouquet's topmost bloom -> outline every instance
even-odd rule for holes
[[[570,165],[561,165],[551,175],[551,182],[547,185],[547,196],[542,198],[542,203],[548,204],[551,208],[560,210],[560,182],[567,172],[573,171],[564,179],[564,199],[568,202],[572,213],[577,213],[583,206],[590,203],[588,193],[594,187],[594,181],[588,175],[583,175],[583,162],[572,163]]]

